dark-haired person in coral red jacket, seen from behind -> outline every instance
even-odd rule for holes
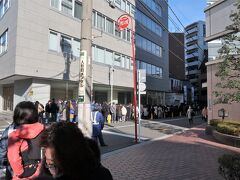
[[[16,125],[8,136],[8,161],[13,179],[33,179],[40,171],[41,149],[39,138],[44,126],[38,122],[38,112],[30,101],[17,104],[13,123]]]

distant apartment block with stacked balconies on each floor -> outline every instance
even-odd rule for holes
[[[199,83],[199,76],[201,71],[199,67],[204,59],[204,50],[207,48],[204,37],[204,21],[197,21],[185,27],[185,75],[193,85],[192,101],[194,102],[198,102],[200,98],[201,84]]]

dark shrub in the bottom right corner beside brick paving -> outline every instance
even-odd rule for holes
[[[227,180],[240,180],[240,155],[224,154],[218,159],[218,172]]]

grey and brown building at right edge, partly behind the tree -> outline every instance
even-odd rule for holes
[[[218,119],[218,110],[224,108],[229,119],[238,120],[240,117],[240,103],[215,104],[214,91],[219,79],[215,76],[218,65],[222,62],[218,50],[222,47],[222,38],[231,33],[226,27],[232,24],[229,16],[234,10],[236,0],[218,0],[206,7],[206,42],[208,43],[207,66],[207,96],[208,96],[208,119]]]

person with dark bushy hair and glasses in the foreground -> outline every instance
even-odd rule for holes
[[[106,179],[99,170],[99,158],[94,154],[80,129],[71,122],[59,122],[47,128],[41,139],[45,171],[55,179]],[[100,173],[101,172],[101,173]],[[107,176],[109,177],[109,176]],[[39,179],[44,179],[39,177]]]

